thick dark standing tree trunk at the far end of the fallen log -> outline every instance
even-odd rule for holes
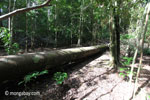
[[[119,8],[121,1],[115,1],[110,10],[110,52],[111,62],[114,69],[117,71],[120,64],[120,17]],[[118,8],[118,9],[117,9]]]

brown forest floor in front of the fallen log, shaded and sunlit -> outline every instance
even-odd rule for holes
[[[0,100],[130,100],[134,84],[127,82],[109,66],[110,54],[90,58],[65,69],[68,79],[57,85],[52,75],[42,76],[26,88],[3,89],[14,92],[40,92],[36,96],[1,96]],[[150,57],[144,56],[135,100],[150,100]],[[12,83],[13,84],[13,83]],[[11,85],[13,86],[13,85]],[[15,90],[14,90],[15,88]]]

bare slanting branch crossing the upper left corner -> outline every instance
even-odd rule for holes
[[[0,20],[6,19],[6,18],[11,17],[11,16],[14,16],[14,15],[16,15],[18,13],[23,13],[23,12],[27,12],[27,11],[30,11],[30,10],[42,8],[44,6],[49,5],[50,2],[51,2],[51,0],[47,0],[46,2],[44,2],[43,4],[38,5],[38,6],[33,6],[33,7],[27,7],[27,8],[21,8],[21,9],[14,10],[14,11],[12,11],[10,13],[1,15],[0,16]]]

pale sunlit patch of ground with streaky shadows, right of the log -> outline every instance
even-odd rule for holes
[[[109,54],[105,53],[79,69],[76,75],[81,84],[76,89],[77,93],[72,91],[73,98],[76,98],[74,100],[129,100],[132,97],[134,84],[123,80],[118,73],[109,72],[106,67],[109,66],[109,57]],[[137,68],[138,64],[134,66]],[[141,84],[143,83],[139,86]],[[144,91],[148,90],[141,90],[135,100],[145,100]]]

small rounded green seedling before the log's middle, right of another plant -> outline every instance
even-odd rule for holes
[[[65,72],[56,72],[53,78],[57,84],[62,84],[64,80],[68,78],[68,75]]]

